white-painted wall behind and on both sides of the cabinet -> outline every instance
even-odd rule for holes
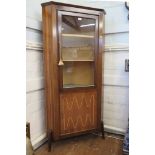
[[[103,8],[105,16],[104,53],[104,100],[103,120],[108,131],[124,133],[128,124],[129,73],[124,71],[125,59],[129,57],[128,11],[124,2],[95,0],[57,0],[83,6]],[[32,145],[36,148],[46,138],[43,50],[42,50],[42,9],[47,0],[27,0],[26,21],[26,119],[31,124]]]

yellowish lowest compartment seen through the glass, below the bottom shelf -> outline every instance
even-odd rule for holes
[[[91,62],[65,62],[63,67],[63,87],[89,87],[94,84],[94,66]]]

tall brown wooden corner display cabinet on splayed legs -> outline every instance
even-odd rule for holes
[[[52,141],[101,132],[102,9],[42,4],[46,126]]]

